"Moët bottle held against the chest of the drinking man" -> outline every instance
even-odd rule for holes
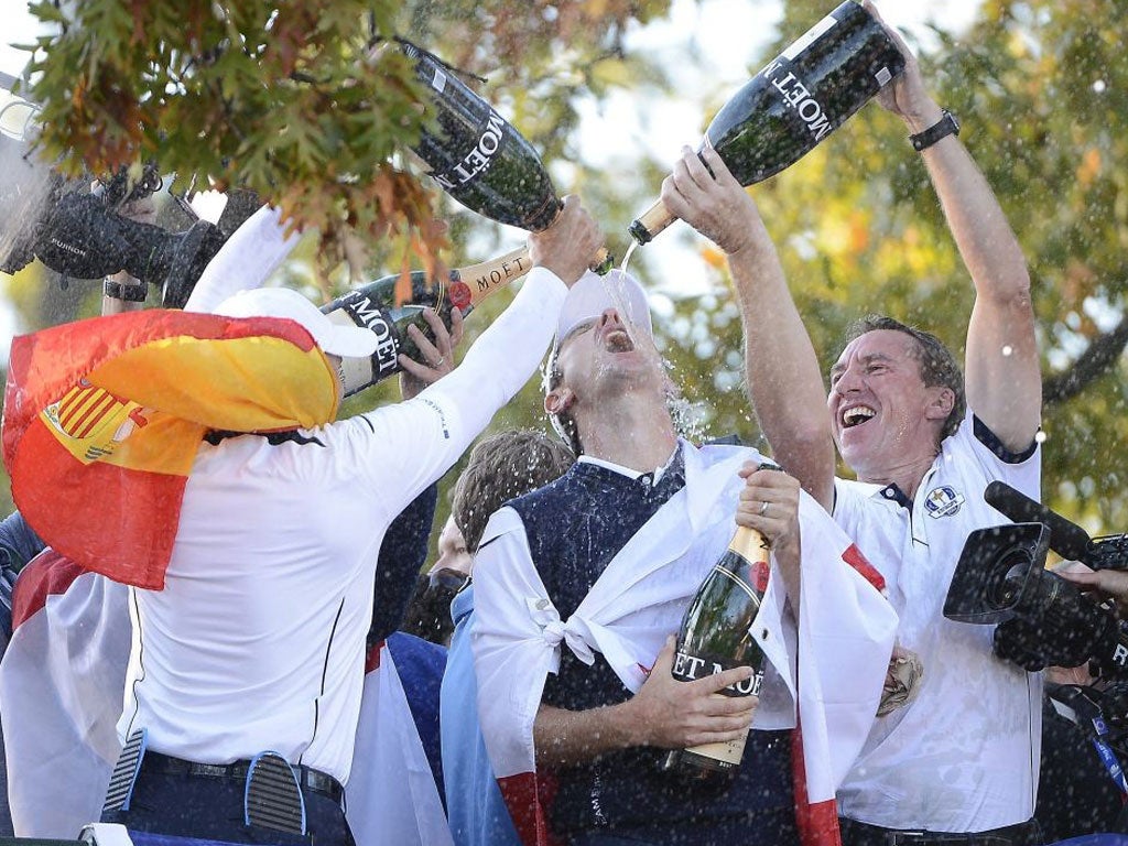
[[[768,544],[758,531],[741,526],[686,609],[671,669],[673,678],[693,681],[733,667],[751,667],[751,678],[722,693],[759,696],[764,652],[752,635],[752,620],[767,581]],[[728,743],[675,749],[666,756],[663,769],[695,778],[732,772],[740,766],[744,741],[746,737],[741,737]]]

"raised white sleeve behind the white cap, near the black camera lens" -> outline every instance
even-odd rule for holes
[[[247,218],[204,267],[184,310],[210,314],[231,294],[262,288],[301,240],[285,236],[281,214],[264,205]]]

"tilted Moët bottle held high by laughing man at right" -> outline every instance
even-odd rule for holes
[[[902,70],[881,23],[846,0],[737,91],[705,138],[737,180],[752,185],[801,159]],[[672,221],[659,200],[629,231],[646,244]]]

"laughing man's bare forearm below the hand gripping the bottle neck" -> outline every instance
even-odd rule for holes
[[[779,466],[829,509],[835,452],[822,374],[767,233],[730,255],[729,267],[743,320],[746,386],[760,430]]]

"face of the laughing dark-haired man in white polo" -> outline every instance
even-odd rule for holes
[[[835,441],[864,481],[891,481],[890,468],[931,461],[938,449],[953,395],[925,386],[915,344],[904,332],[867,332],[830,369],[827,407]]]

